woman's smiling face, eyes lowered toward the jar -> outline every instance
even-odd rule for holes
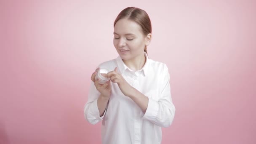
[[[144,53],[145,36],[139,24],[120,19],[114,27],[114,46],[124,60],[130,60]]]

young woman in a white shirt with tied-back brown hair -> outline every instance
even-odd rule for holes
[[[140,8],[125,8],[114,22],[119,56],[99,65],[110,71],[107,83],[95,80],[99,68],[93,72],[84,107],[89,123],[102,120],[103,144],[160,144],[161,127],[173,121],[168,68],[147,56],[151,33],[149,16]]]

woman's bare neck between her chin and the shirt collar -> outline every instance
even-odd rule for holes
[[[123,60],[123,62],[127,67],[129,67],[129,69],[137,71],[141,69],[146,63],[146,57],[144,56],[144,53],[142,53],[141,55],[136,56],[133,59]]]

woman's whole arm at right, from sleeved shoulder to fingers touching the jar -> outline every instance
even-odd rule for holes
[[[161,127],[168,127],[171,125],[176,109],[171,99],[171,88],[169,83],[170,75],[166,65],[164,65],[163,68],[163,83],[160,86],[161,93],[160,96],[157,96],[159,98],[157,101],[150,98],[150,96],[145,96],[129,85],[122,75],[118,73],[117,68],[107,75],[108,77],[111,77],[113,83],[118,84],[125,96],[130,97],[136,104],[138,104],[141,110],[145,112],[142,117],[144,120],[149,120]]]

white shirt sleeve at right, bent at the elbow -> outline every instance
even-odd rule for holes
[[[155,100],[148,96],[148,107],[142,118],[161,127],[168,127],[173,122],[176,109],[171,98],[170,75],[166,65],[164,65],[163,75],[161,93],[157,96],[159,99]]]

